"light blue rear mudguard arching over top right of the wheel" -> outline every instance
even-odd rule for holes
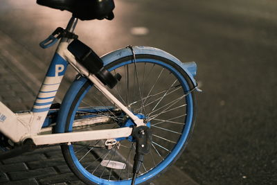
[[[132,49],[134,51],[135,55],[140,54],[148,54],[148,55],[157,55],[163,58],[166,58],[168,60],[171,60],[172,62],[175,62],[175,64],[179,65],[181,69],[183,69],[189,76],[190,80],[193,82],[194,87],[197,87],[197,82],[194,76],[196,76],[197,71],[197,65],[195,62],[186,62],[183,63],[177,58],[175,58],[170,53],[167,53],[166,51],[162,51],[161,49],[156,49],[153,47],[148,46],[132,46]],[[101,58],[104,62],[104,66],[109,64],[110,62],[113,62],[114,60],[118,60],[119,58],[124,58],[132,54],[132,50],[129,48],[125,49],[118,49],[116,51],[112,51],[111,53],[107,53],[106,55],[103,55]]]

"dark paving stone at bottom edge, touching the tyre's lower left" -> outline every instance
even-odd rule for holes
[[[39,179],[40,184],[57,184],[57,183],[62,183],[62,182],[71,182],[75,181],[78,178],[73,174],[73,173],[64,173],[64,174],[59,174],[59,175],[54,175],[51,177],[44,177]]]

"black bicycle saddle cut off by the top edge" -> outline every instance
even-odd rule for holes
[[[114,19],[114,0],[37,0],[42,6],[68,10],[81,20]]]

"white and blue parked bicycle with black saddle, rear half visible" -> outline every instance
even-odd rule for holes
[[[195,62],[145,46],[100,58],[74,29],[78,19],[113,19],[113,0],[37,3],[73,17],[40,43],[48,48],[60,39],[33,108],[14,113],[0,102],[0,146],[6,150],[0,159],[60,145],[86,184],[144,184],[158,177],[184,151],[193,130]],[[78,76],[62,103],[53,104],[68,64]]]

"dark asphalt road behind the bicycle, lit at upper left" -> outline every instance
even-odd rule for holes
[[[0,30],[47,64],[53,48],[38,42],[70,14],[34,3],[1,1]],[[83,21],[76,33],[100,55],[132,44],[197,62],[204,92],[178,168],[199,184],[277,184],[276,8],[275,0],[116,0],[114,21]],[[138,26],[149,33],[132,34]]]

